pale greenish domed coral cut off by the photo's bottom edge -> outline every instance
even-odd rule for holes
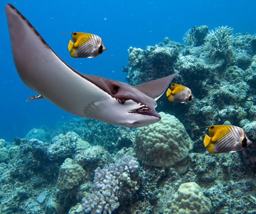
[[[211,201],[204,196],[195,182],[183,183],[173,195],[169,214],[208,214],[211,213]]]

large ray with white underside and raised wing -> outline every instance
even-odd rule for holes
[[[161,120],[156,99],[175,73],[130,84],[83,74],[64,62],[31,23],[11,4],[5,6],[13,61],[23,83],[63,110],[117,126],[142,127]]]

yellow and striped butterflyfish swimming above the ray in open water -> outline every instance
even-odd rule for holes
[[[95,34],[73,32],[72,40],[73,42],[71,40],[68,42],[67,49],[74,58],[97,57],[107,49],[102,39]]]

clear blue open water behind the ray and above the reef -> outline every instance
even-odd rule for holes
[[[1,78],[0,138],[24,137],[34,127],[53,126],[72,117],[47,100],[25,102],[36,92],[19,79],[14,67],[4,5],[12,3],[37,29],[64,61],[82,73],[125,81],[130,46],[145,49],[169,37],[182,42],[193,26],[206,24],[255,33],[256,2],[251,1],[5,1],[0,2]],[[71,34],[81,31],[99,35],[107,47],[91,59],[70,57]],[[29,48],[29,47],[28,47]],[[25,53],[24,53],[25,54]]]

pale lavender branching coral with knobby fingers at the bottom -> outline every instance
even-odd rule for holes
[[[130,174],[137,170],[139,163],[134,157],[125,157],[121,163],[112,163],[103,169],[99,167],[95,170],[94,185],[91,188],[93,193],[87,193],[82,199],[82,207],[85,213],[111,214],[119,207],[118,191],[122,181],[132,183]]]

